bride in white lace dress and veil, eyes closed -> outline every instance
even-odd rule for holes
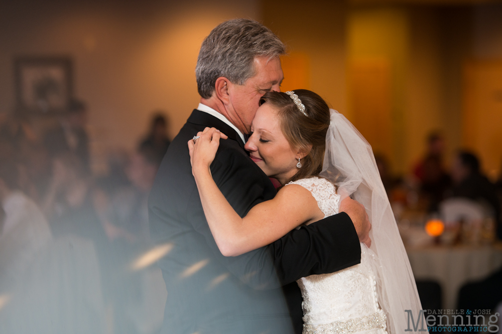
[[[269,92],[245,144],[250,158],[281,188],[240,217],[214,183],[209,166],[219,139],[206,128],[188,142],[192,173],[216,244],[225,256],[268,245],[294,228],[338,213],[352,196],[372,224],[361,262],[331,274],[299,279],[304,334],[397,334],[418,323],[420,300],[371,147],[350,122],[308,90]]]

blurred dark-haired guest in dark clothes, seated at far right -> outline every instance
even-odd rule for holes
[[[452,187],[448,191],[451,197],[466,197],[481,201],[490,206],[497,222],[497,234],[500,237],[500,202],[496,188],[486,176],[482,175],[478,158],[467,151],[460,151],[451,168]]]

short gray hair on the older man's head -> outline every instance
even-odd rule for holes
[[[225,21],[214,28],[200,47],[195,76],[201,97],[211,97],[216,79],[243,85],[255,73],[255,57],[269,60],[284,55],[285,45],[270,29],[253,20]]]

